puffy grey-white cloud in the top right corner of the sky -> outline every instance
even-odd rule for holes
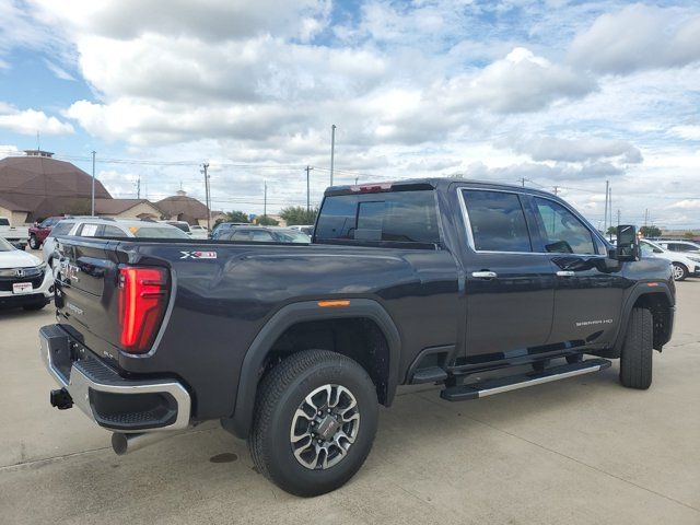
[[[628,5],[600,15],[576,35],[570,48],[573,63],[603,73],[626,74],[673,68],[700,60],[700,15],[677,9]]]

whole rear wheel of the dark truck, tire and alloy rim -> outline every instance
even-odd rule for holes
[[[346,483],[370,454],[378,405],[374,383],[352,359],[295,353],[262,380],[248,448],[257,469],[302,497]]]

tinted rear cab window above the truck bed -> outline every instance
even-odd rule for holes
[[[317,243],[439,244],[434,189],[327,196],[314,233]]]

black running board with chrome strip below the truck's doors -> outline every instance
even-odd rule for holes
[[[486,380],[481,383],[472,383],[470,385],[450,386],[441,390],[440,397],[448,401],[466,401],[468,399],[492,396],[527,386],[565,380],[567,377],[574,377],[576,375],[591,374],[605,370],[610,366],[610,364],[612,363],[607,359],[588,359],[587,361],[581,361],[579,363],[552,366],[541,372]]]

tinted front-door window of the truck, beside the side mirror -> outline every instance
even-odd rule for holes
[[[596,254],[591,231],[558,202],[535,197],[544,228],[545,249],[562,254]]]

